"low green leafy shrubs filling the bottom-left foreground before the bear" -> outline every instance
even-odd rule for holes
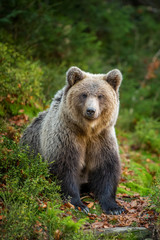
[[[42,232],[41,239],[47,235],[54,239],[57,229],[62,236],[76,234],[85,220],[75,223],[71,217],[63,218],[59,187],[49,179],[47,163],[40,156],[28,157],[6,138],[0,153],[0,179],[5,186],[0,189],[4,208],[1,237],[39,239]]]

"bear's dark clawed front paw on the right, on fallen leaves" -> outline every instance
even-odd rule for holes
[[[125,208],[118,206],[116,203],[110,203],[110,204],[101,204],[102,210],[106,214],[112,214],[112,215],[119,215],[123,212],[125,212]]]

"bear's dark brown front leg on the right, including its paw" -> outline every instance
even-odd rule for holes
[[[111,151],[101,154],[99,166],[89,174],[91,191],[98,198],[102,210],[107,214],[118,215],[125,211],[115,201],[120,176],[120,162],[117,153]]]

